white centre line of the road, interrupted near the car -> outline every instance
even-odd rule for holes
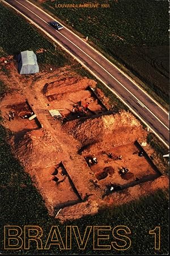
[[[22,3],[18,2],[17,0],[15,0],[15,2],[19,3],[19,5],[22,5],[25,9],[27,9],[28,11],[30,11],[31,13],[33,13],[34,15],[36,15],[39,19],[42,20],[42,22],[48,24],[48,22],[46,22],[44,19],[42,19],[39,15],[35,14],[35,13],[34,13],[32,10],[30,10],[29,8],[25,7]],[[116,77],[114,77],[111,73],[109,73],[109,72],[107,71],[107,69],[105,69],[105,68],[104,68],[103,66],[101,66],[99,63],[97,63],[96,60],[94,60],[90,55],[88,55],[86,52],[84,52],[81,48],[79,48],[78,46],[76,46],[76,44],[74,44],[73,42],[71,42],[70,39],[66,38],[65,35],[62,35],[61,32],[58,31],[58,33],[59,33],[61,36],[63,36],[63,38],[65,38],[66,40],[68,40],[71,44],[73,44],[75,47],[77,47],[81,52],[83,52],[87,57],[89,57],[89,58],[90,58],[92,61],[94,61],[97,65],[99,65],[99,67],[100,67],[101,69],[103,69],[105,72],[107,72],[109,76],[111,76],[111,77],[112,77],[114,80],[116,80],[125,90],[127,90],[127,91],[131,94],[131,96],[134,97],[135,100],[137,100],[137,102],[139,102],[139,104],[142,105],[143,108],[146,108],[147,111],[150,112],[150,113],[151,113],[168,131],[169,131],[169,128],[168,128],[162,121],[160,121],[160,119],[159,119],[158,117],[156,117],[156,115],[155,115],[150,109],[148,109],[145,104],[143,104],[141,101],[139,101],[139,99],[138,99],[136,96],[134,96],[134,94],[131,93],[130,90],[129,90],[128,88],[126,88],[126,86],[124,86],[120,81],[118,81],[118,80],[116,79]],[[141,102],[141,103],[140,103],[140,102]]]

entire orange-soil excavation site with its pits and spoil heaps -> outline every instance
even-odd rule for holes
[[[50,215],[73,220],[168,185],[147,130],[129,111],[115,111],[96,81],[68,67],[33,78],[13,70],[4,124]]]

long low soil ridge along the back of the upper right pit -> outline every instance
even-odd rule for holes
[[[96,82],[87,78],[77,78],[77,77],[64,77],[63,79],[50,82],[50,84],[45,84],[44,86],[44,94],[46,97],[76,92],[78,90],[85,90],[87,86],[96,86]]]

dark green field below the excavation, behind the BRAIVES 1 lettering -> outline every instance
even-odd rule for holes
[[[80,220],[59,224],[57,220],[50,217],[45,208],[44,201],[32,185],[31,177],[24,172],[23,167],[11,153],[7,138],[10,134],[0,126],[0,187],[1,187],[1,228],[0,236],[3,237],[3,227],[5,225],[37,225],[43,229],[43,248],[50,228],[58,225],[62,238],[65,240],[65,226],[77,225],[80,234],[83,236],[87,225],[111,226],[113,229],[117,225],[125,225],[131,230],[131,246],[128,250],[111,251],[102,250],[101,254],[167,254],[168,253],[168,194],[158,191],[155,195],[143,197],[121,207],[102,209],[95,216],[84,217]],[[161,228],[161,247],[154,250],[154,236],[148,234],[155,226]],[[109,244],[113,241],[111,238]],[[105,241],[104,244],[108,244]],[[3,252],[3,239],[0,242],[0,251]],[[93,250],[92,236],[90,235],[86,249],[80,251],[73,238],[72,249],[60,251],[57,246],[50,247],[50,250],[37,250],[36,243],[31,243],[29,250],[5,250],[4,253],[17,254],[99,254]]]

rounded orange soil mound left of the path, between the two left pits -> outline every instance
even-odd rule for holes
[[[23,166],[45,168],[57,161],[59,146],[45,129],[32,130],[15,144],[16,156]]]

